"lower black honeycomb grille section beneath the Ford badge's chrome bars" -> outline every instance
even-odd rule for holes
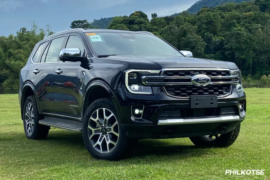
[[[191,95],[217,95],[225,96],[230,92],[230,84],[213,84],[206,87],[197,87],[194,85],[166,85],[164,86],[168,95],[187,98]]]

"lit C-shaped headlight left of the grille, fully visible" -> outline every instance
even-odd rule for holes
[[[124,71],[124,84],[131,94],[152,95],[152,88],[143,86],[142,75],[159,75],[161,70],[126,70]]]

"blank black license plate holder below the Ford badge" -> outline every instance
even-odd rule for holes
[[[190,96],[190,108],[217,107],[217,95]]]

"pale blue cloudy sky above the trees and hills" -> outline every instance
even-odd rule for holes
[[[130,15],[141,10],[167,16],[187,10],[198,0],[0,0],[0,36],[16,34],[21,27],[31,29],[49,24],[53,32],[70,29],[73,20]]]

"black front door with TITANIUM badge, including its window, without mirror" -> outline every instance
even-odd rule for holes
[[[63,48],[78,48],[85,56],[85,43],[79,33],[68,34]],[[79,89],[82,73],[80,62],[62,62],[55,67],[55,113],[74,118],[81,117]],[[57,73],[58,72],[58,73]],[[61,72],[61,73],[59,73]]]

